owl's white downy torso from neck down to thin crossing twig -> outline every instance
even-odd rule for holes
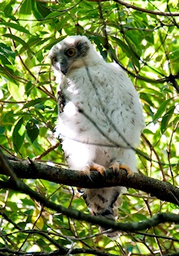
[[[123,137],[132,145],[137,143],[134,138],[140,135],[141,116],[137,93],[123,74],[109,72],[84,67],[61,83],[63,97],[58,106],[65,102],[58,114],[61,135],[89,143],[108,144],[109,138],[123,143]]]

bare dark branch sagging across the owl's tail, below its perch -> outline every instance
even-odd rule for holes
[[[58,211],[61,214],[64,214],[66,217],[77,219],[80,221],[85,221],[93,225],[100,225],[106,227],[107,229],[113,228],[113,230],[120,230],[123,232],[135,232],[140,230],[146,230],[151,227],[155,227],[161,223],[169,222],[179,224],[178,214],[157,214],[151,219],[147,219],[143,222],[131,222],[131,223],[118,223],[113,220],[95,217],[91,214],[83,214],[81,211],[73,210],[72,208],[64,208],[63,206],[56,205],[56,203],[50,202],[44,196],[40,195],[37,192],[34,192],[22,181],[19,181],[17,184],[12,183],[11,181],[0,181],[1,188],[10,188],[18,192],[25,193],[35,200],[42,203],[43,206]]]

